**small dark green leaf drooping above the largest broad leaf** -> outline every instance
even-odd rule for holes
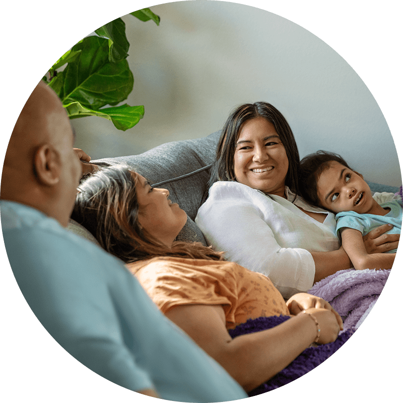
[[[109,61],[117,62],[128,56],[130,44],[126,38],[125,29],[123,20],[117,18],[95,30],[97,35],[109,41]]]

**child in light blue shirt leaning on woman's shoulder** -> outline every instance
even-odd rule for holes
[[[339,155],[325,151],[302,159],[300,189],[308,203],[336,215],[336,232],[356,270],[392,267],[397,248],[368,254],[362,237],[386,223],[393,226],[388,233],[400,234],[401,200],[378,204],[363,176]]]

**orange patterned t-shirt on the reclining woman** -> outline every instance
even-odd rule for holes
[[[227,328],[290,314],[270,279],[233,262],[167,256],[126,266],[163,313],[178,305],[222,305]]]

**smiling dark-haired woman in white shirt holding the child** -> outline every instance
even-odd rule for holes
[[[286,298],[352,267],[334,214],[302,197],[299,162],[293,132],[273,105],[237,107],[223,127],[209,197],[195,219],[208,244],[266,275]],[[363,238],[368,251],[385,251],[385,241],[375,243],[372,235]]]

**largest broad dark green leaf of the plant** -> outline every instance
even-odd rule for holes
[[[81,52],[49,83],[63,105],[78,101],[86,108],[97,110],[127,98],[133,89],[133,74],[126,59],[117,63],[109,61],[108,39],[89,36],[72,50]]]

